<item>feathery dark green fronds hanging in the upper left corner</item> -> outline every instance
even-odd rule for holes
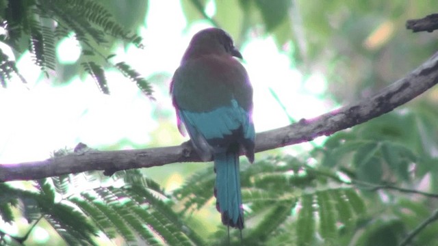
[[[47,77],[48,70],[56,70],[56,43],[73,33],[82,50],[78,64],[92,76],[101,92],[110,93],[103,68],[112,66],[134,81],[147,96],[151,96],[151,85],[138,72],[123,61],[112,63],[114,55],[111,48],[116,42],[142,48],[142,38],[120,25],[104,3],[91,0],[4,0],[1,6],[0,18],[3,20],[3,29],[8,33],[5,43],[16,53],[29,49],[35,64]],[[26,42],[28,45],[23,45]],[[18,74],[18,71],[14,61],[5,57],[3,52],[0,55],[3,61],[1,85],[5,87],[11,74]]]

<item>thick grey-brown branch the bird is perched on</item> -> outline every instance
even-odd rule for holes
[[[317,118],[302,119],[296,124],[258,133],[255,151],[270,150],[294,143],[311,141],[315,137],[361,124],[412,100],[438,82],[438,55],[430,57],[407,77],[385,87],[372,98],[347,105]],[[181,146],[144,150],[93,151],[68,154],[45,161],[0,164],[0,182],[34,180],[89,170],[117,170],[153,167],[168,163],[201,161],[188,143]]]

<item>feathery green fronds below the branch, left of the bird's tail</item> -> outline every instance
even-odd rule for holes
[[[68,245],[97,245],[98,232],[111,239],[121,237],[129,245],[203,244],[190,228],[183,230],[184,224],[171,209],[172,200],[159,185],[137,170],[114,176],[124,181],[122,188],[98,185],[73,191],[81,189],[84,179],[99,184],[108,179],[96,180],[98,177],[99,174],[86,173],[38,180],[32,182],[36,191],[1,184],[1,218],[12,222],[13,208],[23,204],[20,208],[23,217],[28,221],[44,219]],[[3,236],[0,239],[5,241]]]

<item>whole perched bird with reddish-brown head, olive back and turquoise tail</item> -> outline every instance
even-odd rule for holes
[[[170,85],[178,128],[184,124],[201,159],[213,156],[216,208],[226,226],[244,228],[239,156],[254,161],[253,88],[242,55],[218,28],[194,35]]]

